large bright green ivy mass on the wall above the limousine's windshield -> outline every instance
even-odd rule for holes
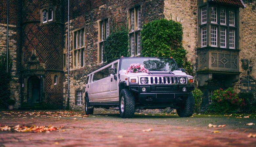
[[[181,23],[173,20],[154,20],[144,24],[141,30],[141,56],[173,57],[179,66],[192,73],[191,62],[186,60],[187,51],[182,46]]]

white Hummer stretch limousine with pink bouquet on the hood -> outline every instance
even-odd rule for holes
[[[194,78],[173,58],[121,57],[88,74],[85,111],[119,110],[132,118],[136,109],[176,108],[180,117],[194,112]]]

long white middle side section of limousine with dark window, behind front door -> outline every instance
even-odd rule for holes
[[[108,69],[111,66],[106,67],[93,74],[91,83],[91,100],[92,102],[109,101],[111,99],[110,94],[110,74]]]

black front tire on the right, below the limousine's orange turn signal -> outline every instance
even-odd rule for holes
[[[177,113],[180,117],[190,117],[193,115],[195,109],[195,99],[192,92],[189,92],[185,103],[180,104],[177,108]]]

